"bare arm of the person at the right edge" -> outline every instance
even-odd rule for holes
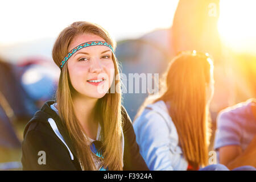
[[[220,156],[225,157],[222,159],[222,164],[225,164],[230,170],[240,166],[256,167],[256,135],[245,151],[242,151],[240,146],[225,146],[221,147],[219,151]],[[228,162],[225,159],[229,159]]]

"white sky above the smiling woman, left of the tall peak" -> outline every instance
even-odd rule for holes
[[[0,45],[56,38],[69,24],[85,20],[100,24],[115,40],[138,38],[172,24],[178,0],[171,1],[4,1],[1,3]]]

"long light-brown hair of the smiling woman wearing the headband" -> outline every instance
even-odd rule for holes
[[[75,36],[80,34],[94,34],[100,36],[115,49],[116,44],[104,28],[98,24],[89,22],[74,22],[60,32],[52,49],[52,58],[59,67],[60,61],[68,53],[69,44]],[[121,115],[121,81],[119,78],[119,64],[112,53],[115,77],[112,86],[115,92],[105,94],[97,101],[94,110],[94,118],[101,123],[103,130],[104,166],[109,170],[122,170],[122,115]],[[96,167],[91,157],[91,151],[87,144],[88,137],[84,137],[82,127],[73,109],[72,95],[74,88],[69,78],[67,64],[61,70],[59,85],[56,91],[56,101],[60,118],[67,127],[72,142],[76,148],[77,156],[84,170],[95,170]],[[101,113],[101,114],[97,114]]]

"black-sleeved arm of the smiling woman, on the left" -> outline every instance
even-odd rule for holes
[[[28,131],[22,143],[23,170],[77,170],[56,135]]]

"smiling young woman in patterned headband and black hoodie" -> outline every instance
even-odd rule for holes
[[[114,49],[97,24],[75,22],[60,33],[52,49],[61,69],[56,100],[24,130],[23,169],[148,170],[121,105]]]

